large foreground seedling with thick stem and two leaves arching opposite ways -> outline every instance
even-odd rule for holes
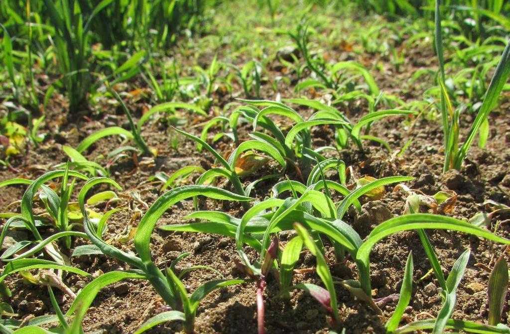
[[[168,306],[172,307],[174,310],[180,310],[183,312],[184,305],[180,302],[180,297],[178,295],[180,292],[176,290],[173,280],[168,275],[165,276],[165,274],[154,262],[152,262],[151,259],[150,238],[154,227],[156,226],[156,222],[173,204],[198,195],[213,199],[239,201],[249,201],[252,199],[210,186],[183,186],[174,188],[160,196],[142,217],[134,237],[135,249],[138,252],[138,256],[136,256],[109,245],[97,236],[95,227],[90,221],[87,211],[85,210],[85,196],[93,186],[101,183],[110,184],[120,188],[112,179],[105,177],[93,177],[82,187],[78,196],[78,202],[84,216],[84,229],[88,238],[105,255],[112,256],[115,259],[137,268],[143,275],[145,275]],[[189,312],[189,314],[192,313],[193,312]]]

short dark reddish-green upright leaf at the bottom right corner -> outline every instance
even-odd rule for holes
[[[501,314],[508,287],[508,264],[503,255],[494,264],[489,275],[487,296],[489,299],[489,325],[496,326],[501,323]]]

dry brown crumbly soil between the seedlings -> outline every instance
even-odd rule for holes
[[[337,50],[334,56],[344,57],[343,53]],[[359,57],[368,57],[359,56]],[[389,93],[399,95],[405,100],[419,99],[423,90],[405,84],[411,78],[413,72],[423,64],[413,62],[412,58],[421,57],[427,64],[434,64],[433,55],[430,53],[411,54],[405,62],[403,70],[398,75],[377,74],[376,80],[381,88]],[[210,59],[204,56],[204,63]],[[381,61],[385,61],[382,59]],[[277,61],[275,61],[277,63]],[[279,68],[278,64],[272,64],[271,68]],[[391,65],[388,64],[388,67]],[[269,70],[269,69],[268,69]],[[270,76],[282,75],[280,72],[270,70]],[[431,79],[430,79],[431,80]],[[402,83],[404,87],[402,87]],[[429,87],[430,83],[423,83]],[[236,88],[235,88],[236,89]],[[240,87],[237,87],[240,90]],[[237,93],[236,93],[237,94]],[[234,95],[236,95],[234,94]],[[264,86],[262,97],[274,99],[275,94],[270,85]],[[281,92],[282,98],[295,97],[293,86],[287,87]],[[311,94],[306,92],[306,94]],[[239,94],[237,94],[239,95]],[[223,107],[227,102],[233,101],[231,96],[215,97],[214,105]],[[507,97],[504,98],[507,101]],[[140,110],[147,105],[144,101],[138,101],[131,105],[135,116],[140,116]],[[353,108],[351,108],[353,107]],[[47,127],[43,129],[50,132],[50,136],[39,148],[32,148],[29,155],[19,157],[14,161],[13,166],[20,172],[15,173],[8,170],[2,171],[2,179],[11,177],[27,176],[37,177],[45,170],[51,169],[53,165],[66,161],[66,156],[61,150],[61,145],[77,146],[77,144],[91,132],[108,125],[125,125],[125,117],[115,110],[106,109],[101,114],[92,114],[91,121],[83,118],[70,122],[60,121],[63,113],[63,106],[53,104],[53,109],[47,116]],[[361,117],[366,113],[363,106],[339,106],[345,109],[345,113],[353,119]],[[339,155],[347,166],[353,168],[353,178],[362,175],[373,177],[384,177],[391,175],[414,176],[414,181],[407,183],[413,189],[423,191],[432,195],[439,190],[451,189],[458,194],[456,207],[449,215],[456,218],[469,219],[474,214],[483,211],[484,200],[492,199],[506,205],[510,205],[510,118],[506,110],[508,103],[491,114],[491,138],[484,149],[473,146],[468,159],[461,171],[450,171],[442,173],[442,130],[438,120],[428,120],[425,117],[416,119],[413,126],[406,128],[402,124],[403,118],[391,118],[381,120],[372,126],[371,134],[388,141],[393,152],[388,152],[377,143],[366,142],[365,152],[359,152],[354,147],[342,150]],[[311,111],[299,109],[303,115],[310,115]],[[472,116],[463,115],[463,127],[469,124]],[[192,123],[202,123],[206,118],[192,118]],[[59,131],[54,132],[55,127],[48,124],[57,123]],[[188,126],[187,131],[198,134],[200,126]],[[246,129],[247,130],[247,129]],[[198,153],[193,142],[180,138],[179,148],[171,147],[169,129],[163,123],[147,125],[142,132],[150,146],[157,147],[159,156],[154,161],[151,159],[139,159],[136,166],[132,159],[118,161],[111,167],[112,178],[124,189],[119,192],[122,201],[119,207],[126,208],[110,219],[110,226],[106,238],[114,238],[124,234],[129,227],[136,227],[140,220],[140,213],[147,210],[146,205],[153,203],[161,194],[160,183],[149,182],[149,178],[156,172],[163,171],[171,173],[186,165],[201,165],[210,167],[214,161],[206,152]],[[324,145],[330,143],[333,132],[327,128],[318,129],[313,132],[314,141]],[[462,133],[463,136],[466,132]],[[246,137],[246,136],[242,136]],[[401,156],[395,152],[399,150],[409,139],[413,139],[411,146]],[[120,142],[116,139],[103,139],[87,150],[86,156],[93,160],[101,154],[106,155],[113,148],[118,147]],[[232,149],[230,143],[219,142],[217,147],[227,152]],[[268,173],[267,170],[259,171],[259,175]],[[295,177],[295,175],[290,175]],[[250,176],[246,182],[252,181],[256,176]],[[268,195],[271,184],[278,180],[262,184],[255,190],[258,198]],[[191,182],[191,181],[190,181]],[[230,187],[226,185],[226,187]],[[24,187],[10,186],[0,188],[0,209],[2,212],[11,212],[18,206],[5,210],[7,205],[14,200],[20,199]],[[349,211],[345,220],[352,224],[358,232],[365,237],[377,223],[379,216],[400,215],[404,209],[405,196],[402,192],[392,192],[387,187],[386,195],[378,202],[365,203],[362,213],[356,214]],[[140,200],[133,198],[130,193],[137,192]],[[103,204],[104,205],[104,204]],[[230,210],[232,214],[239,215],[239,208],[236,204],[222,204],[221,202],[205,201],[209,209]],[[102,210],[100,206],[97,210]],[[158,222],[158,226],[183,222],[182,217],[192,211],[191,201],[184,201],[174,205]],[[387,218],[389,218],[387,217]],[[508,215],[496,216],[493,220],[494,228],[496,221],[501,221],[497,231],[499,236],[510,238],[510,227],[507,222]],[[354,222],[356,221],[356,224]],[[46,230],[45,233],[52,233]],[[191,252],[191,255],[182,260],[177,270],[193,265],[208,265],[223,273],[227,278],[238,278],[243,275],[236,269],[234,259],[237,257],[234,240],[214,235],[202,235],[191,233],[166,233],[155,230],[161,238],[153,238],[151,249],[154,261],[159,264],[164,261],[173,260],[182,252]],[[283,234],[283,242],[289,234]],[[453,233],[449,231],[429,232],[433,246],[435,247],[439,260],[447,275],[454,263],[466,247],[472,250],[468,263],[468,269],[457,293],[457,304],[452,315],[455,319],[484,321],[487,319],[487,284],[489,272],[483,269],[482,264],[492,267],[494,260],[503,253],[504,247],[498,244],[478,239],[474,236]],[[85,243],[83,240],[75,240],[73,247]],[[134,251],[133,242],[118,245],[125,249]],[[71,247],[72,248],[72,247]],[[429,262],[424,254],[423,248],[414,232],[405,232],[392,235],[378,243],[371,255],[372,285],[376,289],[376,297],[388,296],[398,293],[403,277],[403,268],[409,252],[413,252],[415,271],[414,280],[417,281],[425,275],[430,268]],[[69,253],[71,250],[69,250]],[[250,253],[256,259],[256,253]],[[73,258],[73,264],[90,273],[97,270],[104,272],[111,270],[126,270],[129,266],[118,263],[106,256],[82,256]],[[356,279],[354,263],[348,259],[345,264],[334,264],[333,258],[329,259],[331,270],[337,277]],[[315,259],[305,251],[298,264],[298,269],[312,268],[315,266]],[[215,274],[209,271],[192,271],[184,278],[184,283],[193,291],[203,282],[216,278]],[[68,275],[66,283],[72,290],[78,291],[83,286],[82,278],[76,275]],[[315,273],[296,274],[295,282],[315,282],[321,284]],[[53,313],[49,297],[44,287],[25,284],[20,276],[12,276],[8,285],[13,291],[10,301],[15,312],[21,317],[32,314],[39,316]],[[472,285],[473,282],[479,285]],[[476,288],[473,288],[475,287]],[[196,320],[197,333],[254,333],[257,330],[256,323],[256,288],[254,283],[246,283],[221,289],[211,293],[205,298],[199,307]],[[266,301],[266,331],[268,333],[326,333],[329,327],[326,322],[326,313],[321,306],[308,294],[301,291],[294,291],[290,302],[286,303],[275,298],[278,293],[276,281],[270,277],[265,293]],[[441,306],[440,288],[433,274],[428,275],[419,284],[414,285],[414,295],[410,306],[406,309],[405,319],[413,320],[415,317],[424,319],[437,315]],[[381,333],[384,332],[383,323],[370,307],[356,300],[342,288],[337,289],[340,308],[340,319],[342,326],[347,333]],[[57,293],[61,298],[61,294]],[[396,300],[381,306],[386,317],[389,317],[396,306]],[[62,301],[63,310],[70,305],[68,298]],[[103,289],[95,299],[92,307],[84,321],[84,328],[87,332],[104,333],[131,333],[139,325],[164,309],[164,304],[158,294],[152,289],[147,281],[130,280]],[[506,312],[506,311],[505,311]],[[504,314],[504,323],[507,323],[507,314]],[[179,323],[160,325],[148,331],[148,333],[175,333],[181,332]]]

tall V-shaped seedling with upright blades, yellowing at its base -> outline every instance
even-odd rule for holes
[[[473,144],[476,135],[485,129],[488,132],[488,126],[483,126],[484,122],[487,122],[488,116],[492,109],[497,104],[497,99],[503,86],[508,80],[510,75],[510,41],[508,41],[501,59],[499,60],[498,66],[494,72],[487,93],[483,98],[482,105],[478,109],[478,113],[471,124],[469,134],[465,139],[464,143],[459,147],[459,133],[460,133],[460,110],[453,110],[451,106],[448,93],[446,91],[446,76],[444,71],[444,60],[443,60],[443,39],[442,39],[442,28],[441,28],[441,12],[440,12],[440,0],[436,0],[436,29],[435,29],[435,45],[436,52],[439,59],[440,73],[438,80],[441,88],[441,118],[443,122],[443,142],[445,148],[445,161],[443,165],[443,171],[447,171],[451,168],[460,169],[462,163],[467,156],[469,148]],[[486,123],[487,125],[487,123]],[[486,136],[480,133],[480,136]]]

